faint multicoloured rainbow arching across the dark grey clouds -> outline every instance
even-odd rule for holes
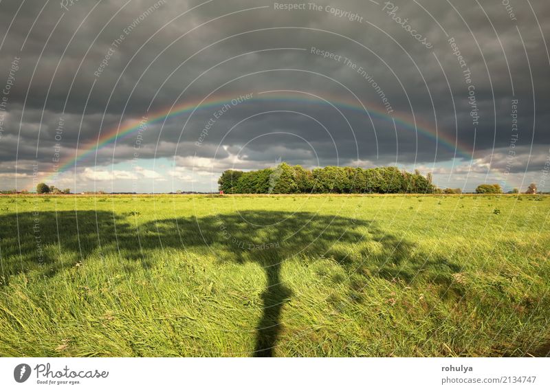
[[[425,122],[419,120],[413,120],[412,116],[406,115],[404,113],[394,112],[393,114],[388,114],[386,109],[381,105],[369,104],[368,106],[363,106],[362,103],[357,100],[351,100],[347,98],[341,98],[336,96],[323,96],[323,100],[315,98],[313,94],[309,93],[289,93],[288,91],[269,91],[270,93],[254,93],[254,98],[250,100],[244,100],[242,104],[248,104],[250,102],[296,102],[296,103],[315,103],[330,106],[333,104],[335,107],[341,107],[343,109],[349,109],[352,111],[360,111],[365,113],[364,107],[367,107],[369,115],[372,118],[379,118],[388,122],[395,121],[395,124],[403,126],[404,129],[417,132],[421,135],[425,135],[430,139],[435,140],[437,143],[442,144],[445,148],[448,148],[455,156],[462,157],[465,160],[472,159],[472,147],[462,144],[458,139],[454,139],[449,135],[438,132],[436,129],[433,129]],[[297,91],[296,91],[297,92]],[[246,95],[246,93],[243,93]],[[131,120],[125,122],[121,126],[115,126],[113,129],[110,129],[104,135],[100,135],[96,141],[88,142],[83,146],[78,146],[78,150],[75,155],[69,156],[66,159],[63,159],[56,166],[56,170],[50,173],[47,178],[54,179],[56,175],[65,172],[71,168],[76,168],[79,161],[83,161],[87,157],[90,157],[96,153],[101,148],[113,144],[118,139],[122,139],[133,133],[136,133],[143,126],[148,126],[158,122],[165,122],[168,118],[177,117],[178,115],[184,115],[186,113],[191,113],[196,110],[206,110],[212,108],[222,107],[223,104],[230,104],[231,100],[235,99],[237,95],[225,95],[225,96],[215,96],[208,98],[206,100],[192,100],[187,101],[178,106],[171,107],[170,109],[162,109],[156,111],[155,113],[147,113],[140,120]],[[366,114],[366,113],[365,113]],[[80,152],[79,152],[80,150]]]

